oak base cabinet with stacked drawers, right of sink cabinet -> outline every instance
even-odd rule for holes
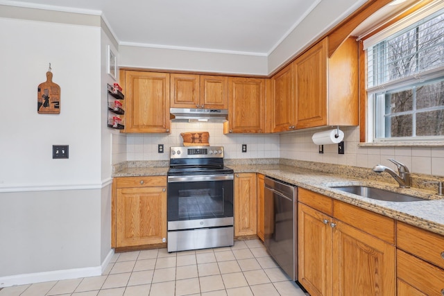
[[[444,237],[396,225],[398,296],[444,295]]]

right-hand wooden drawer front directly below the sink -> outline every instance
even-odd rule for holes
[[[333,216],[348,225],[352,225],[382,241],[395,244],[395,220],[352,204],[334,200]]]

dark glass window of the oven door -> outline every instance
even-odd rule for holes
[[[232,201],[232,181],[169,183],[168,220],[232,217]]]

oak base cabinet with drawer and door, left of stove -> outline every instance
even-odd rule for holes
[[[162,245],[167,238],[167,177],[112,182],[112,247]]]

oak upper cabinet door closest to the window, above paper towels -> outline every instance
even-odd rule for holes
[[[327,124],[327,38],[294,62],[296,128]]]

